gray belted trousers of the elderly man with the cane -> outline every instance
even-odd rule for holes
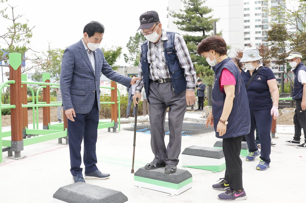
[[[182,124],[187,107],[186,91],[175,94],[172,83],[150,81],[151,148],[157,163],[177,165],[181,153]],[[165,146],[165,118],[169,107],[169,144]]]

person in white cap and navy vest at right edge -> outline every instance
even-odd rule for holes
[[[296,145],[297,148],[306,149],[306,66],[302,62],[302,54],[300,52],[291,52],[285,60],[289,61],[289,65],[294,73],[292,98],[297,102],[297,108],[293,116],[294,137],[292,140],[285,142],[287,144]],[[302,128],[305,141],[301,144]]]

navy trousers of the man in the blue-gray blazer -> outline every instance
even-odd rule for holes
[[[68,136],[70,152],[70,172],[73,176],[82,173],[81,143],[84,140],[83,162],[85,173],[97,170],[96,142],[98,136],[99,108],[97,95],[90,112],[86,114],[76,113],[74,121],[68,119]]]

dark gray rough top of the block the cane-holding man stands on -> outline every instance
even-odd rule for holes
[[[191,178],[192,174],[183,169],[176,169],[175,173],[165,173],[164,167],[154,170],[148,170],[142,167],[135,172],[134,176],[178,184]]]

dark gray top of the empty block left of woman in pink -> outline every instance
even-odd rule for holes
[[[182,152],[185,155],[192,155],[192,156],[200,156],[200,157],[207,157],[207,158],[223,158],[223,150],[220,148],[212,148],[212,147],[202,147],[202,146],[190,146],[185,148]]]

